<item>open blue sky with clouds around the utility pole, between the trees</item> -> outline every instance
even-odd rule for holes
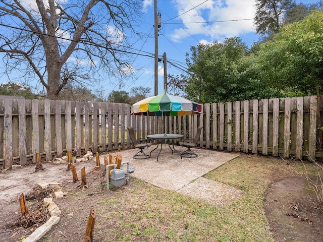
[[[318,1],[297,0],[296,2],[313,4]],[[143,37],[131,39],[132,35],[125,34],[130,43],[135,43],[129,51],[153,56],[154,0],[143,0],[142,3],[142,18],[134,23],[134,26],[143,34]],[[240,37],[250,47],[259,39],[253,26],[254,5],[254,0],[157,0],[157,9],[161,14],[158,55],[161,56],[166,52],[168,61],[185,69],[185,55],[190,52],[191,46],[196,46],[198,43],[223,42],[227,37]],[[120,89],[117,80],[106,80],[101,83],[102,88],[99,91],[102,91],[105,98],[113,90],[130,92],[132,87],[139,86],[150,87],[149,95],[153,95],[154,58],[138,55],[131,65],[135,78],[123,80],[125,85]],[[158,93],[161,93],[164,91],[163,63],[158,64],[158,69]],[[167,73],[175,76],[185,74],[172,65],[167,65]],[[0,77],[0,83],[4,82],[7,82],[7,78]]]

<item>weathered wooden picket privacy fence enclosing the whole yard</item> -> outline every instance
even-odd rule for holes
[[[206,103],[201,114],[175,117],[134,116],[129,104],[0,97],[0,164],[129,148],[127,126],[139,139],[165,131],[193,137],[202,125],[199,147],[315,159],[316,110],[316,96]]]

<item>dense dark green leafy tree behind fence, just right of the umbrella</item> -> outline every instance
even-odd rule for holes
[[[186,78],[184,85],[187,98],[206,103],[277,95],[259,79],[260,66],[240,38],[228,38],[224,43],[199,44],[191,50],[187,64],[193,74]]]

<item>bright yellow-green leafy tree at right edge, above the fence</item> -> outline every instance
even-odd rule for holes
[[[277,88],[294,88],[305,95],[321,95],[323,84],[323,12],[283,27],[261,45],[258,61],[262,80]]]

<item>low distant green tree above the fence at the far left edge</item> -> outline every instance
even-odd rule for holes
[[[24,86],[21,83],[7,82],[0,85],[0,95],[6,96],[21,96],[25,99],[37,98],[35,94],[32,93],[30,87]]]

